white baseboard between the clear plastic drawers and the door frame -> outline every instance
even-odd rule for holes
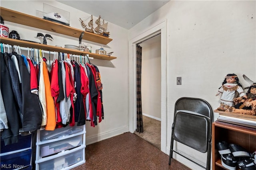
[[[129,131],[129,126],[126,126],[126,127],[121,127],[119,129],[115,129],[113,131],[104,132],[104,133],[97,134],[97,135],[86,136],[86,145],[90,145],[92,143],[103,141],[105,139],[108,139],[108,138],[111,138],[111,137],[114,137],[117,135],[121,135],[128,131]]]

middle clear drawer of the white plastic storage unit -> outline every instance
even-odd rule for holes
[[[83,144],[83,135],[78,135],[72,138],[39,145],[40,157],[42,158],[44,156],[62,152],[63,150],[73,149],[75,147],[79,147],[82,144]]]

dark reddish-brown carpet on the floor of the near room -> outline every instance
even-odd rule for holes
[[[86,163],[72,170],[190,170],[134,133],[86,146]]]

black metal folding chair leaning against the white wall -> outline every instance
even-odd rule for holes
[[[212,107],[205,100],[184,97],[176,101],[174,107],[174,122],[172,124],[169,164],[171,164],[171,158],[173,152],[175,152],[198,166],[210,170],[212,115]],[[202,153],[207,152],[206,167],[192,160],[188,155],[178,152],[177,149],[173,149],[174,141]]]

